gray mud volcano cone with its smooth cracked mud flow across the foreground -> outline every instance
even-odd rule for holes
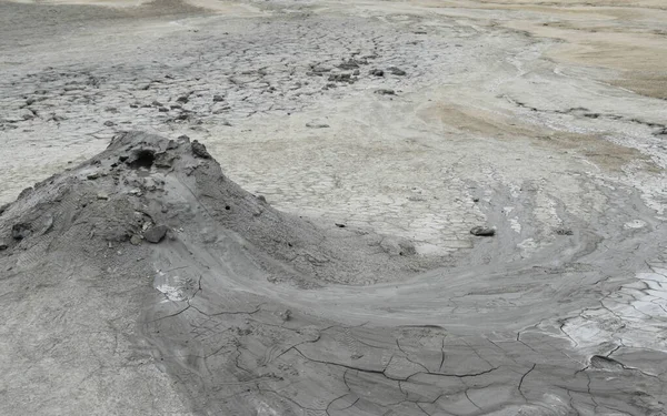
[[[201,143],[120,134],[0,216],[3,412],[661,414],[665,231],[634,192],[609,196],[529,261],[499,260],[500,222],[434,268],[409,242],[276,211]],[[391,283],[347,285],[369,278]],[[115,402],[72,400],[90,392]]]

